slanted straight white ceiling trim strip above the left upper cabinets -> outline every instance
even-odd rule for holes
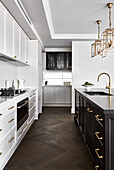
[[[30,28],[32,29],[33,33],[36,35],[36,37],[37,37],[38,41],[40,42],[42,48],[44,49],[44,44],[43,44],[40,36],[38,35],[38,33],[37,33],[37,31],[36,31],[36,29],[35,29],[32,21],[30,20],[30,17],[29,17],[29,15],[27,14],[27,12],[26,12],[26,10],[25,10],[25,8],[24,8],[21,0],[14,0],[14,2],[15,2],[15,4],[17,5],[17,7],[19,8],[20,12],[22,13],[23,17],[24,17],[25,20],[27,21],[27,23],[28,23],[28,25],[30,26]],[[19,2],[19,3],[18,3],[18,2]],[[21,4],[21,6],[20,6],[20,4]]]

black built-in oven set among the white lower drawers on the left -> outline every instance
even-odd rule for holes
[[[24,124],[28,116],[28,98],[25,98],[17,103],[17,130]]]

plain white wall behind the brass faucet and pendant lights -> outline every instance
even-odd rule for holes
[[[72,42],[72,113],[75,112],[74,88],[81,87],[85,81],[95,84],[94,87],[104,87],[108,83],[108,77],[102,75],[100,82],[97,77],[102,72],[111,76],[111,87],[114,87],[114,53],[108,53],[107,57],[91,58],[92,41]]]

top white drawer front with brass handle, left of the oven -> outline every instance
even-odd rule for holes
[[[5,116],[10,115],[10,113],[14,110],[15,110],[15,103],[0,108],[0,120],[3,120]]]

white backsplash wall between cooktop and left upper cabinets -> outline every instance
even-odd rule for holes
[[[5,87],[5,80],[18,79],[18,67],[0,61],[0,88]]]

